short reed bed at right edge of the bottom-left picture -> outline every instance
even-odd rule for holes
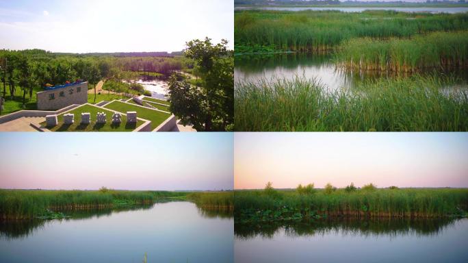
[[[205,209],[233,210],[234,193],[229,192],[192,192],[187,199]]]

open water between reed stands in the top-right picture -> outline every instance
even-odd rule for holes
[[[451,76],[456,79],[454,87],[467,88],[468,71],[461,68],[450,72],[428,70],[420,75],[431,75],[439,78]],[[408,77],[409,74],[402,73],[400,76]],[[315,79],[326,90],[334,91],[341,88],[352,88],[369,79],[395,77],[395,75],[389,75],[386,72],[378,74],[376,72],[343,71],[335,66],[331,54],[278,53],[235,56],[234,80],[236,84],[245,81],[257,82],[259,79],[271,82],[278,78],[294,79],[296,77]],[[443,82],[441,84],[444,85]],[[442,88],[450,87],[443,86]]]

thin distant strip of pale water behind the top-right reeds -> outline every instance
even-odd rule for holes
[[[276,10],[276,11],[304,11],[304,10],[339,10],[341,12],[363,12],[365,10],[394,10],[399,12],[429,12],[429,13],[464,13],[468,8],[403,8],[403,7],[324,7],[324,8],[286,8],[286,7],[242,7],[237,6],[234,10]]]

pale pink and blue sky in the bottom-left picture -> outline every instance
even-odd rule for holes
[[[0,133],[0,188],[233,189],[231,133]]]

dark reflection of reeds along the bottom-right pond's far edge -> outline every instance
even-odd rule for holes
[[[358,218],[328,218],[314,221],[294,223],[236,223],[234,232],[236,238],[250,239],[256,236],[272,238],[279,231],[286,236],[315,236],[340,234],[342,236],[437,236],[443,229],[450,227],[457,220],[454,218],[437,219],[358,219]]]

